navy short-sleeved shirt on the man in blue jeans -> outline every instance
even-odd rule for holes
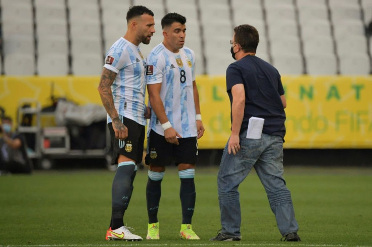
[[[266,61],[254,55],[247,55],[230,64],[226,70],[226,89],[232,104],[231,88],[243,84],[246,102],[240,133],[247,130],[251,116],[264,118],[262,133],[281,136],[286,135],[286,113],[281,95],[284,89],[278,71]],[[232,115],[231,115],[232,122]]]

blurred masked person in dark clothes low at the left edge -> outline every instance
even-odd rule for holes
[[[13,121],[2,117],[0,126],[0,172],[31,173],[32,163],[27,156],[27,145],[22,134],[13,133]]]

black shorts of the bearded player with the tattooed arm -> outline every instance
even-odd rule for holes
[[[122,115],[119,115],[119,118],[128,128],[128,137],[122,141],[116,139],[112,122],[108,123],[113,149],[111,164],[118,163],[119,154],[135,160],[136,164],[141,163],[144,154],[145,126]]]

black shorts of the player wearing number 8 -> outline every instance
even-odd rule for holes
[[[174,159],[175,165],[196,164],[198,161],[197,137],[178,138],[179,145],[168,143],[164,136],[151,130],[147,138],[147,165],[170,165]]]

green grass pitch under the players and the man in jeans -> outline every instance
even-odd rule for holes
[[[281,242],[266,194],[254,171],[240,187],[242,241],[210,242],[220,229],[218,167],[196,170],[193,229],[202,240],[178,237],[179,178],[169,167],[162,182],[160,240],[106,241],[113,172],[36,171],[0,176],[2,246],[372,246],[372,168],[285,167],[302,242]],[[147,169],[138,170],[124,222],[146,238]]]

